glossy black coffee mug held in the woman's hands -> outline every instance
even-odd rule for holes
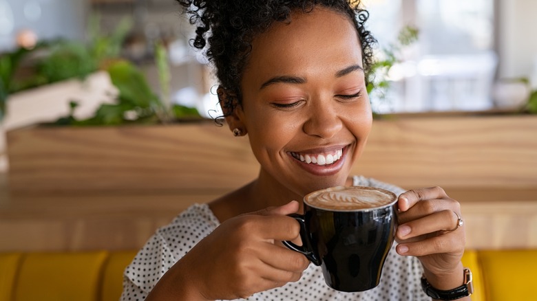
[[[350,193],[360,199],[360,193],[364,191],[379,192],[386,199],[373,207],[364,204],[367,200],[361,205],[347,202],[342,208],[308,202],[324,192],[333,195]],[[290,241],[284,241],[284,245],[304,254],[315,265],[321,265],[329,287],[351,292],[366,291],[379,285],[382,267],[397,230],[395,194],[359,186],[328,188],[306,195],[304,215],[291,216],[300,223],[302,246]]]

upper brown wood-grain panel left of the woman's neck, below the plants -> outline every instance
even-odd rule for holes
[[[257,175],[246,137],[213,122],[8,133],[10,189],[211,190]]]

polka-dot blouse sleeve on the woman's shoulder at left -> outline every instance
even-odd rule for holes
[[[160,227],[125,269],[125,278],[149,292],[182,256],[218,227],[207,204],[195,204]]]

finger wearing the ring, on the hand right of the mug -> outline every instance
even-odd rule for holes
[[[453,210],[434,212],[421,219],[415,219],[397,227],[397,238],[405,240],[438,231],[454,229],[459,218]]]

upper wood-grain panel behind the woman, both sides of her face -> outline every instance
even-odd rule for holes
[[[537,116],[375,120],[355,174],[406,188],[536,187]],[[254,179],[246,137],[212,122],[8,133],[13,192],[231,189]]]

